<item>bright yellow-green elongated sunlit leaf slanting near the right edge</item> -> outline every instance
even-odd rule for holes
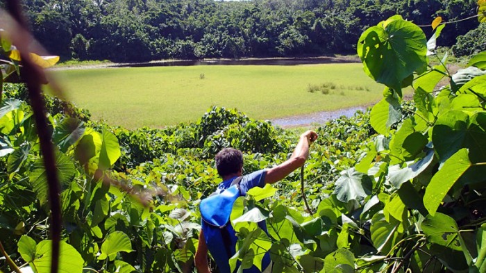
[[[435,215],[442,199],[469,167],[471,167],[471,161],[469,161],[468,151],[460,149],[446,160],[439,172],[433,176],[424,195],[424,205],[431,215]]]

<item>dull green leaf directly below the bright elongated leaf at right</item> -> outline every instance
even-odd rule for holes
[[[458,240],[458,224],[449,216],[442,213],[427,215],[421,228],[430,242],[454,250],[461,250]]]

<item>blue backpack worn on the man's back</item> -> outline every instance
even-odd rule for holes
[[[242,178],[237,177],[229,188],[213,192],[199,204],[204,239],[219,267],[219,272],[231,272],[228,261],[236,252],[234,247],[231,247],[236,245],[237,237],[231,226],[230,215],[233,204],[241,196]]]

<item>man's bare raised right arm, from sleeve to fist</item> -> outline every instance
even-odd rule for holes
[[[265,183],[275,183],[285,178],[291,172],[301,167],[305,160],[309,157],[309,147],[312,142],[317,140],[317,133],[315,131],[306,131],[299,138],[299,143],[294,149],[292,156],[285,160],[284,163],[267,169],[265,176]]]

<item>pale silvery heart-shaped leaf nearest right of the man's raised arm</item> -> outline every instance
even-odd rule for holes
[[[350,200],[362,200],[371,194],[371,179],[367,174],[356,172],[354,168],[346,169],[341,172],[341,176],[336,181],[336,188],[333,195],[342,202]]]

